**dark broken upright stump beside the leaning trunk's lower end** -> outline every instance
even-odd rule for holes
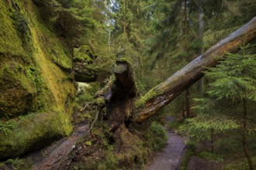
[[[106,120],[110,127],[109,131],[114,132],[130,117],[133,98],[137,96],[137,87],[133,79],[133,70],[126,61],[116,61],[112,72],[116,80],[107,93],[109,104],[107,104]]]

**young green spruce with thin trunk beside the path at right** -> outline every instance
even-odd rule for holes
[[[247,135],[254,132],[255,128],[251,126],[248,119],[247,103],[250,100],[256,101],[256,55],[247,54],[250,48],[250,45],[241,46],[239,53],[227,53],[219,65],[206,71],[206,76],[214,80],[209,84],[209,90],[206,92],[209,98],[198,99],[197,108],[200,114],[198,117],[189,119],[183,130],[185,129],[190,137],[196,138],[204,138],[203,134],[207,134],[200,134],[200,131],[209,131],[205,138],[211,139],[213,145],[213,131],[239,128],[244,155],[252,170],[254,167],[247,148]],[[223,100],[233,101],[233,104],[240,103],[242,106],[240,117],[234,117],[232,109],[227,110],[230,108],[227,105],[232,105],[232,102],[225,104],[226,109],[220,107]]]

